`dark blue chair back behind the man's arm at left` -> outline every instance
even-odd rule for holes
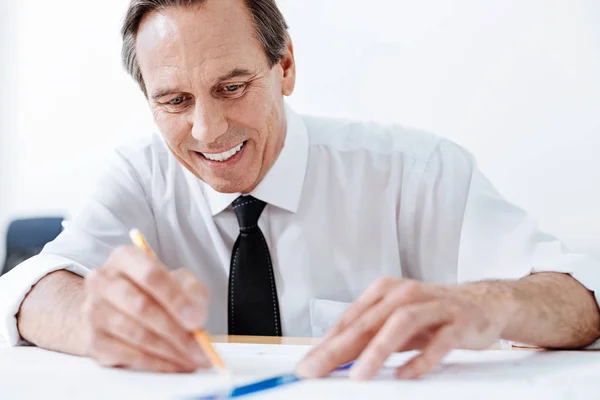
[[[46,243],[62,231],[62,217],[18,219],[10,223],[6,234],[6,261],[0,275],[39,254]]]

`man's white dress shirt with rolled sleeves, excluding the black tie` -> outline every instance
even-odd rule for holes
[[[285,146],[251,193],[271,252],[283,334],[318,336],[382,276],[456,284],[572,274],[600,293],[600,265],[568,252],[502,198],[458,145],[401,126],[299,116],[286,107]],[[91,198],[42,253],[0,278],[0,335],[22,343],[15,314],[51,271],[85,276],[128,231],[211,292],[206,329],[227,333],[231,202],[172,156],[160,135],[123,147]]]

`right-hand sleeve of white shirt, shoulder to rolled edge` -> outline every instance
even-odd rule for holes
[[[600,261],[574,253],[540,231],[531,216],[498,193],[465,150],[442,141],[423,178],[419,201],[430,207],[417,207],[423,219],[418,224],[418,253],[437,266],[435,272],[455,274],[446,281],[520,279],[536,272],[560,272],[593,292],[600,304]],[[427,248],[429,237],[433,248]],[[456,265],[454,271],[448,271],[448,262]],[[600,348],[600,340],[589,348]]]

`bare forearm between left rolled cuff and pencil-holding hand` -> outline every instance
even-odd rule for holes
[[[64,270],[48,274],[21,304],[17,315],[21,337],[38,347],[84,355],[84,300],[81,277]]]

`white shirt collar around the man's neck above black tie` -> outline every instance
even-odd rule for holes
[[[271,169],[250,193],[267,204],[298,211],[308,163],[308,132],[302,118],[285,104],[286,137]],[[219,193],[202,182],[204,197],[213,216],[225,210],[241,193]]]

